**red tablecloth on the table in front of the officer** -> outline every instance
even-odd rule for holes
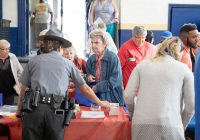
[[[80,107],[81,111],[89,111],[89,107]],[[105,111],[104,119],[80,119],[81,111],[76,119],[65,127],[64,140],[131,140],[131,122],[120,107],[119,116],[109,116]],[[22,122],[4,117],[0,122],[10,128],[11,140],[21,140]]]

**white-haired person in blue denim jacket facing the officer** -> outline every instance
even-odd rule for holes
[[[122,72],[118,56],[107,48],[108,38],[102,30],[90,32],[92,51],[86,63],[86,82],[96,82],[92,90],[101,93],[101,99],[124,105],[122,92]]]

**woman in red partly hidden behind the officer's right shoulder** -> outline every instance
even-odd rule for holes
[[[76,67],[79,69],[80,74],[85,78],[86,74],[86,61],[83,60],[82,58],[78,58],[76,54],[76,49],[74,46],[71,46],[69,48],[65,48],[63,50],[63,56],[69,60],[71,60]],[[75,95],[75,85],[70,79],[69,85],[68,85],[68,91],[69,91],[69,98],[73,98]]]

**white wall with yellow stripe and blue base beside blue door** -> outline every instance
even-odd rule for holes
[[[132,37],[135,25],[142,25],[154,32],[154,44],[160,42],[164,30],[168,30],[169,4],[200,4],[199,0],[121,0],[120,45]]]

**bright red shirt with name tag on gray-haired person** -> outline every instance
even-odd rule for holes
[[[128,83],[128,79],[133,69],[142,61],[155,56],[156,47],[148,42],[144,42],[143,46],[138,47],[132,39],[125,42],[118,51],[120,59],[124,88]],[[130,58],[131,61],[127,61]]]

